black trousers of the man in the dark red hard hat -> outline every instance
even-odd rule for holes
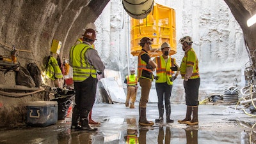
[[[97,78],[89,76],[83,82],[74,82],[74,89],[76,92],[75,102],[77,110],[79,110],[80,117],[84,117],[81,113],[84,111],[91,111],[95,102]]]

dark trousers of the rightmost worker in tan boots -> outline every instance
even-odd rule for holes
[[[185,93],[186,93],[186,105],[187,106],[198,106],[198,93],[200,86],[200,78],[189,79],[183,82]]]

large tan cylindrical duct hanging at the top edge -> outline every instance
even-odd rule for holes
[[[152,11],[154,6],[153,0],[122,0],[124,10],[135,19],[143,19]]]

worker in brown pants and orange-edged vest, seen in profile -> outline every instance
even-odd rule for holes
[[[141,52],[138,56],[138,78],[141,86],[141,97],[139,104],[139,125],[140,126],[153,126],[154,122],[149,122],[146,118],[146,108],[148,103],[148,96],[151,89],[153,80],[152,71],[157,67],[156,63],[150,59],[148,51],[151,50],[153,40],[144,37],[140,40]]]

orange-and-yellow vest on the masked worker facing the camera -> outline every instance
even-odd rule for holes
[[[173,71],[171,70],[172,58],[168,56],[167,62],[164,61],[163,55],[156,57],[156,75],[158,76],[158,80],[156,83],[165,83],[167,82],[168,85],[172,85],[173,82],[170,81],[172,78]]]

